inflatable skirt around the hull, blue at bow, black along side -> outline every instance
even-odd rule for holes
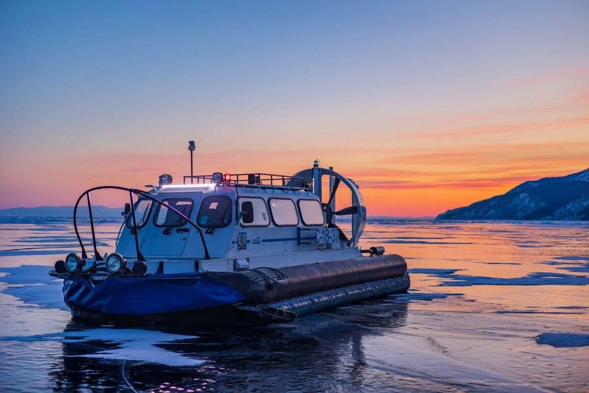
[[[391,293],[411,285],[398,255],[239,272],[64,278],[74,317],[115,325],[262,325]]]

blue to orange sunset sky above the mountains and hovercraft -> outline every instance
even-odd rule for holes
[[[589,1],[2,1],[0,208],[161,173],[435,216],[589,167]],[[96,203],[118,205],[114,196]]]

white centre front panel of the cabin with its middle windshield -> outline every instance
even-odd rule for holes
[[[154,206],[154,217],[145,236],[140,240],[140,250],[145,258],[150,257],[181,257],[190,232],[194,228],[176,212],[166,206],[183,213],[193,219],[200,195],[191,197],[168,197],[164,204]]]

